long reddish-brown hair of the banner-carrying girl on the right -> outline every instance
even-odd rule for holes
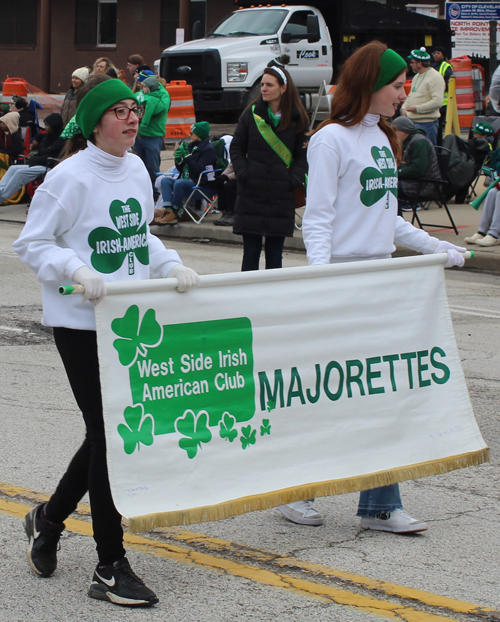
[[[361,123],[370,109],[373,87],[380,72],[380,57],[386,50],[387,46],[384,43],[371,41],[356,50],[346,60],[335,89],[330,116],[318,126],[315,132],[325,125],[330,125],[330,123],[338,123],[348,127]],[[394,80],[398,76],[395,76]],[[396,132],[382,116],[378,125],[389,139],[394,157],[399,162],[401,160],[401,145]]]

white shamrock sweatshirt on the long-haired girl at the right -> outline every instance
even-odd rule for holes
[[[378,115],[314,134],[302,234],[310,265],[388,258],[394,243],[432,253],[439,240],[397,215],[397,168]]]

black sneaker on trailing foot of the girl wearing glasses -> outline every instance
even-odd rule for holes
[[[64,523],[51,523],[40,516],[44,506],[40,503],[24,518],[24,529],[28,536],[28,562],[42,577],[50,577],[57,568],[57,548],[64,531]]]

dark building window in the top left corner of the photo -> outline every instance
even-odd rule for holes
[[[2,3],[0,45],[35,45],[37,0]]]

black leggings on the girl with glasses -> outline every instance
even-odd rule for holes
[[[45,506],[45,514],[53,522],[64,522],[88,490],[99,563],[109,565],[123,557],[125,549],[121,516],[113,503],[108,479],[96,333],[54,328],[54,339],[82,411],[86,434]]]

